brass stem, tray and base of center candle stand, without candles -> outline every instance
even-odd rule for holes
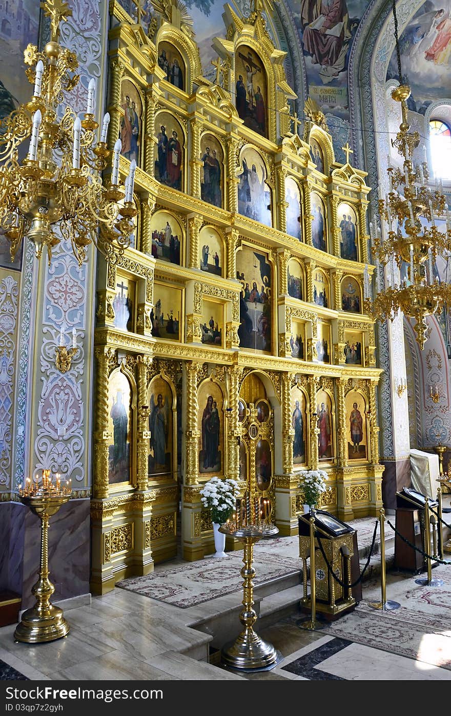
[[[255,569],[252,566],[254,560],[254,545],[262,537],[274,536],[278,533],[274,525],[250,525],[248,527],[234,529],[233,526],[223,525],[219,531],[236,537],[245,545],[243,556],[244,567],[241,570],[243,581],[243,607],[239,614],[244,629],[234,642],[226,644],[222,649],[222,662],[232,669],[241,669],[245,672],[264,671],[272,669],[282,659],[282,654],[269,642],[260,639],[253,627],[257,621],[257,613],[254,607],[254,583]]]

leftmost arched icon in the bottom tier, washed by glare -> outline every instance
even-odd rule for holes
[[[108,482],[130,481],[131,390],[119,369],[108,380]]]

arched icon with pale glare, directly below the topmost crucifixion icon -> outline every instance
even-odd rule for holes
[[[262,155],[247,145],[241,150],[238,175],[238,211],[265,226],[272,226],[271,190]]]

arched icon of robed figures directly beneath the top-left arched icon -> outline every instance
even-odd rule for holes
[[[173,189],[184,188],[184,132],[171,112],[158,112],[155,119],[157,138],[155,178]]]

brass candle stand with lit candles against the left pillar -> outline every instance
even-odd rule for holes
[[[50,518],[57,513],[61,505],[70,500],[71,493],[70,482],[62,484],[59,475],[55,475],[52,480],[50,470],[42,470],[41,483],[32,483],[28,479],[24,488],[19,490],[21,502],[41,520],[41,557],[39,579],[32,587],[36,604],[22,614],[22,621],[14,632],[16,642],[53,642],[54,639],[65,637],[69,632],[70,627],[62,609],[50,603],[54,586],[49,580],[48,531]]]

